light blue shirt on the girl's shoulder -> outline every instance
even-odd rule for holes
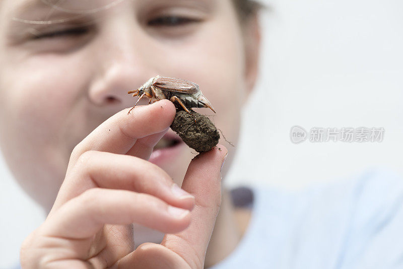
[[[298,193],[252,187],[248,229],[211,269],[403,268],[403,178],[371,169]]]

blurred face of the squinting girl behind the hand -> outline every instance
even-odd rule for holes
[[[244,45],[231,0],[3,0],[0,146],[16,179],[49,209],[73,148],[156,75],[197,83],[236,144],[256,73]],[[180,147],[155,161],[179,184],[194,157]]]

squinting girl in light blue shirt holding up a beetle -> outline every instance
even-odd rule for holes
[[[167,100],[127,114],[128,90],[156,75],[187,79],[236,143],[257,74],[257,9],[247,0],[0,2],[0,143],[49,212],[22,246],[22,268],[402,266],[397,176],[372,171],[295,195],[238,189],[231,199],[221,178],[235,148],[194,158],[169,129]],[[234,207],[242,197],[254,198],[252,218]]]

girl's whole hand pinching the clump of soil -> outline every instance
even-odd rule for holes
[[[227,150],[218,145],[194,158],[182,184],[188,193],[173,191],[171,177],[146,160],[174,105],[162,100],[127,111],[76,146],[46,221],[23,243],[22,268],[203,268]],[[132,223],[166,235],[135,250]]]

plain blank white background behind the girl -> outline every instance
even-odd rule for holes
[[[300,188],[376,165],[403,175],[403,2],[266,1],[261,74],[225,184]],[[383,127],[382,143],[294,145],[290,128]],[[1,160],[0,160],[1,161]],[[43,220],[0,163],[0,268]]]

